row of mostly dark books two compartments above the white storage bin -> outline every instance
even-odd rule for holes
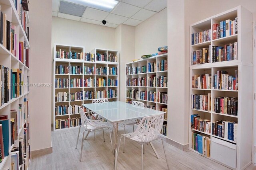
[[[214,98],[214,112],[237,116],[238,98],[236,97]]]

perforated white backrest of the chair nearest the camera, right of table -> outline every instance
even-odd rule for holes
[[[140,141],[147,143],[156,139],[164,123],[164,113],[143,117],[134,131],[134,136],[138,136]]]

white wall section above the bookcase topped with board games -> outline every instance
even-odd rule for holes
[[[167,8],[135,28],[135,59],[157,53],[158,47],[167,45]]]

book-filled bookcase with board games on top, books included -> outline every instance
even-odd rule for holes
[[[151,109],[167,109],[167,56],[166,53],[126,63],[125,89],[127,103],[131,104],[133,101],[139,101],[143,102],[145,107]],[[161,98],[161,94],[164,97]],[[166,114],[160,134],[162,137],[166,137],[167,122]]]

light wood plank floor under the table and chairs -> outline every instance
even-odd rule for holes
[[[132,128],[127,127],[127,132]],[[119,134],[123,129],[119,127]],[[53,153],[32,158],[29,170],[112,170],[114,155],[111,152],[110,137],[105,130],[106,142],[103,142],[102,130],[96,131],[96,139],[93,141],[93,133],[90,133],[84,141],[82,161],[79,162],[82,135],[80,133],[78,149],[75,149],[78,128],[65,129],[52,132]],[[160,159],[157,159],[150,145],[145,146],[144,169],[145,170],[166,170],[166,160],[164,150],[160,141],[153,142]],[[204,158],[190,150],[182,151],[165,144],[168,163],[172,170],[229,170],[208,158]],[[122,152],[120,147],[118,155],[118,170],[141,169],[140,145],[134,141],[126,139],[126,152]],[[255,165],[250,165],[247,170],[256,170]]]

